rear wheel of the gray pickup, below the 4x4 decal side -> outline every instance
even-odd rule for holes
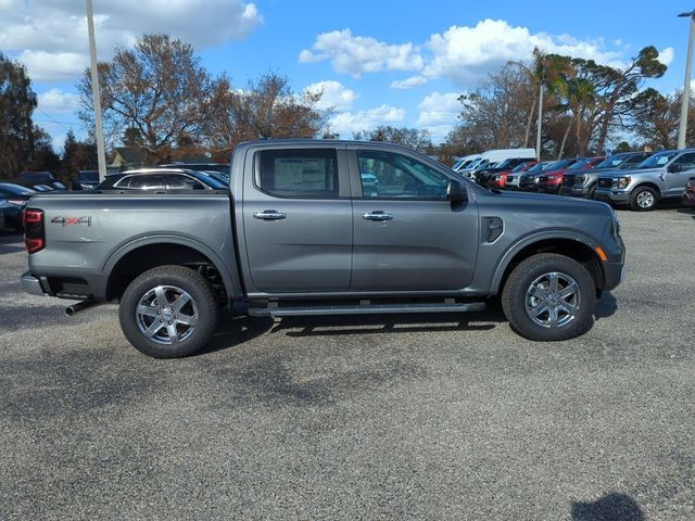
[[[118,318],[126,339],[140,353],[179,358],[207,344],[217,326],[217,302],[198,272],[160,266],[130,282]]]

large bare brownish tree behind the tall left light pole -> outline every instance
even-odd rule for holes
[[[155,161],[173,158],[180,142],[190,145],[192,136],[203,135],[218,107],[214,96],[220,85],[228,85],[225,77],[207,73],[189,43],[168,35],[144,35],[132,49],[116,49],[111,62],[99,63],[98,72],[105,132],[117,141],[129,129]],[[80,118],[91,125],[89,69],[77,88]]]

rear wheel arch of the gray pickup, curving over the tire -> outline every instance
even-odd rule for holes
[[[180,237],[142,238],[115,251],[104,264],[102,272],[105,277],[103,289],[106,300],[119,298],[125,288],[140,274],[148,269],[164,265],[181,265],[189,267],[214,268],[208,280],[217,283],[218,295],[228,298],[241,292],[241,283],[237,274],[230,272],[228,265],[210,247],[197,241]],[[218,280],[215,280],[217,278]]]

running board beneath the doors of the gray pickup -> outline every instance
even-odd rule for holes
[[[300,317],[307,315],[380,315],[386,313],[468,313],[482,312],[484,302],[433,304],[359,304],[352,306],[278,306],[249,307],[252,317]]]

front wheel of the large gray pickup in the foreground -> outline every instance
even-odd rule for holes
[[[557,275],[555,289],[552,274]],[[563,292],[567,294],[563,296]],[[596,287],[591,274],[577,260],[554,253],[533,255],[520,263],[502,292],[502,308],[511,329],[540,342],[585,333],[594,323],[595,307]]]

